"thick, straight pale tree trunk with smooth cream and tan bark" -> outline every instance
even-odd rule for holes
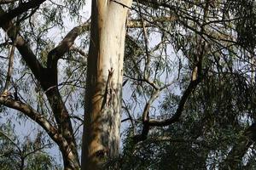
[[[92,1],[82,169],[119,156],[125,22],[131,0]]]

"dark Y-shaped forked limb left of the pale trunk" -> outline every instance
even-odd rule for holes
[[[3,14],[6,14],[6,13],[3,11],[3,8],[0,7],[0,16],[3,16]],[[7,24],[2,26],[3,30],[6,31],[8,36],[11,38],[12,42],[14,42],[15,37],[17,37],[16,47],[18,48],[22,58],[26,61],[26,65],[28,65],[28,67],[32,70],[32,73],[38,79],[38,82],[40,82],[40,85],[44,89],[44,92],[49,100],[49,105],[51,106],[51,109],[55,115],[55,120],[59,127],[58,139],[60,139],[59,141],[55,140],[55,142],[60,146],[63,159],[68,164],[67,166],[70,166],[70,167],[75,166],[76,168],[79,168],[79,154],[77,150],[76,140],[74,138],[73,126],[67,111],[67,107],[61,98],[59,89],[57,88],[57,84],[58,84],[57,59],[58,58],[56,58],[55,56],[59,57],[65,54],[67,50],[69,50],[69,48],[73,45],[73,41],[75,40],[75,38],[78,37],[79,34],[83,32],[83,28],[84,28],[83,26],[85,26],[85,24],[82,26],[73,28],[73,30],[70,31],[67,34],[67,36],[63,39],[60,45],[58,45],[49,53],[50,65],[48,63],[48,68],[44,68],[40,64],[36,55],[33,54],[31,48],[29,48],[29,46],[26,44],[24,38],[20,36],[17,26],[14,26],[14,24],[11,21],[7,22]],[[15,103],[16,105],[11,105],[12,103],[4,103],[4,104],[8,107],[14,108],[15,106],[17,107],[17,104],[20,104],[20,103]],[[16,109],[19,109],[19,108],[20,107],[17,107]],[[31,111],[27,112],[27,114],[29,113],[31,113]],[[29,116],[32,116],[32,119],[36,122],[38,121],[38,119],[41,119],[41,117],[37,117],[37,116],[33,117],[35,115],[29,115]],[[40,125],[42,127],[43,126],[45,127],[43,121],[39,123],[41,123]],[[75,161],[75,163],[70,161],[69,156],[74,156],[73,161]]]

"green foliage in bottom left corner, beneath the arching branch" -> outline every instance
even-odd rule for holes
[[[38,133],[35,139],[26,137],[21,141],[15,135],[10,123],[0,127],[0,167],[3,170],[28,169],[61,169],[54,157],[46,153],[52,144],[44,144],[43,133]]]

